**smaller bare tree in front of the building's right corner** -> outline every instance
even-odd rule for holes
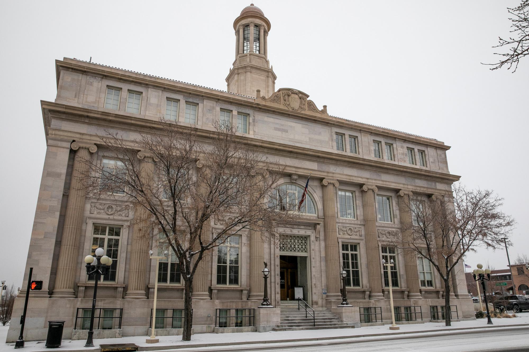
[[[450,326],[450,288],[456,265],[480,247],[501,247],[515,221],[501,212],[503,198],[460,184],[441,196],[429,200],[411,196],[403,203],[401,211],[408,212],[412,221],[402,225],[402,238],[395,244],[426,258],[435,268],[444,284],[445,325]]]

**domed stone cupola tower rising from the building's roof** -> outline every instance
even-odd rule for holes
[[[269,97],[276,91],[276,74],[268,61],[270,21],[253,4],[244,7],[233,22],[235,61],[226,77],[227,90],[255,97],[256,90]]]

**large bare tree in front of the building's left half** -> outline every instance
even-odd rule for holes
[[[277,228],[297,215],[282,206],[286,198],[276,190],[282,166],[244,144],[236,127],[216,124],[203,134],[162,120],[147,133],[136,132],[131,141],[107,131],[102,148],[118,162],[111,167],[85,160],[89,171],[80,179],[89,197],[130,201],[144,237],[162,239],[176,255],[187,341],[193,279],[203,258],[248,229],[251,236],[275,239]]]

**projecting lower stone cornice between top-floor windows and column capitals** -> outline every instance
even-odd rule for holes
[[[129,131],[129,132],[144,131],[145,133],[147,133],[149,132],[150,128],[153,128],[153,127],[157,128],[157,126],[160,126],[161,124],[159,121],[153,121],[150,119],[125,116],[125,115],[110,113],[110,112],[101,111],[101,110],[81,108],[77,106],[64,105],[64,104],[59,104],[59,103],[52,103],[50,101],[41,101],[41,107],[42,107],[42,117],[44,120],[43,121],[44,129],[45,129],[47,137],[63,138],[64,140],[68,140],[68,139],[76,140],[76,138],[79,138],[82,136],[84,140],[90,140],[90,142],[92,143],[100,142],[100,138],[96,135],[93,135],[93,136],[90,136],[88,134],[80,135],[76,132],[65,131],[62,129],[52,129],[50,127],[50,121],[49,121],[50,113],[53,115],[56,115],[53,118],[65,119],[67,121],[75,121],[76,123],[81,123],[81,124],[101,126],[104,128],[108,128],[108,127],[114,128],[115,127],[115,128],[120,128],[123,131]],[[186,128],[186,126],[181,126],[181,128]],[[202,137],[205,140],[211,137],[212,133],[214,133],[214,131],[206,130],[206,129],[197,129],[198,137],[199,138]],[[381,162],[377,160],[364,159],[356,154],[351,154],[351,153],[341,154],[341,153],[320,151],[320,150],[315,150],[315,149],[306,149],[304,147],[298,147],[298,146],[287,145],[287,144],[282,144],[278,142],[260,140],[257,138],[252,138],[252,137],[247,137],[247,136],[242,136],[242,135],[237,136],[236,138],[241,138],[241,140],[243,140],[245,143],[248,143],[254,146],[255,149],[259,150],[260,152],[268,152],[274,155],[288,156],[290,158],[296,157],[296,158],[307,160],[307,161],[325,160],[325,162],[335,163],[335,164],[340,164],[340,165],[343,165],[343,163],[354,163],[354,166],[360,169],[366,169],[370,171],[384,171],[386,173],[391,173],[391,174],[396,174],[396,175],[405,174],[405,175],[409,175],[410,177],[427,179],[427,180],[435,181],[435,182],[450,183],[450,184],[460,179],[458,175],[452,175],[449,173],[443,173],[439,171],[411,168],[405,165],[390,164],[390,163],[385,163],[385,162]],[[304,170],[305,172],[302,172],[302,170]],[[288,173],[308,175],[309,172],[314,171],[314,170],[304,169],[304,168],[291,168],[290,166],[287,165],[285,171],[287,171]],[[327,175],[331,178],[337,177],[337,176],[333,177],[332,175],[335,175],[335,173],[332,173],[332,172],[322,171],[322,172],[319,172],[318,175],[314,174],[314,176],[321,177],[321,178],[325,178]],[[348,181],[348,182],[354,182],[354,183],[368,182],[367,179],[364,180],[363,178],[358,178],[358,177],[349,178],[346,176],[347,175],[343,175],[342,177],[344,177],[343,180]],[[342,177],[340,177],[340,179],[342,179]],[[383,182],[380,184],[380,186],[386,186],[386,184],[389,184],[389,183]],[[391,186],[389,186],[389,188],[402,189],[403,186],[405,185],[392,183]],[[433,193],[431,189],[424,189],[424,192]]]

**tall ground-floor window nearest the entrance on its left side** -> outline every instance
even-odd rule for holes
[[[217,247],[217,285],[239,284],[239,247],[239,236],[230,236]]]

